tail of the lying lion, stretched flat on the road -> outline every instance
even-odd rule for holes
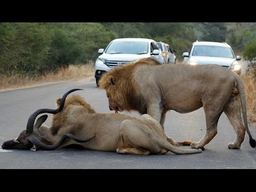
[[[174,154],[179,154],[179,155],[182,155],[182,154],[195,154],[195,153],[201,153],[202,152],[202,149],[182,149],[182,148],[179,148],[179,147],[176,147],[176,146],[173,146],[169,141],[165,140],[164,142],[162,143],[159,143],[159,145],[166,149],[166,150],[169,150],[171,151],[172,153]]]

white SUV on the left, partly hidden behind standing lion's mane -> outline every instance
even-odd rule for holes
[[[99,49],[101,55],[95,61],[96,84],[103,73],[116,66],[141,58],[156,58],[164,63],[164,58],[157,43],[146,38],[119,38],[109,43],[106,50]]]

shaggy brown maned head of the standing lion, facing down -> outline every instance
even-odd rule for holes
[[[140,114],[147,113],[139,85],[132,75],[135,68],[141,65],[161,65],[161,63],[156,59],[143,58],[118,66],[102,75],[99,86],[106,90],[110,110],[116,112],[138,110]]]

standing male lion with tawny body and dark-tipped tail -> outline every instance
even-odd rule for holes
[[[245,92],[241,79],[218,65],[161,65],[153,58],[140,59],[103,74],[99,86],[106,90],[109,109],[139,111],[149,114],[164,128],[168,110],[189,113],[201,107],[206,117],[206,133],[192,148],[203,149],[217,134],[220,115],[224,113],[236,131],[236,139],[228,144],[239,149],[245,137],[255,148],[247,126]],[[244,124],[240,114],[240,105]]]

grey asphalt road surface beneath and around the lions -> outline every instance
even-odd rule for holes
[[[17,138],[26,129],[27,119],[39,108],[55,108],[55,99],[70,89],[71,94],[84,97],[99,113],[114,113],[108,108],[105,90],[87,82],[50,84],[29,89],[0,92],[0,145]],[[123,113],[139,116],[138,113]],[[50,118],[45,122],[50,126]],[[256,139],[255,127],[249,127]],[[203,109],[189,114],[170,111],[166,115],[165,133],[175,140],[198,141],[205,133]],[[87,149],[57,149],[52,151],[5,150],[0,148],[0,169],[256,169],[256,150],[249,145],[246,134],[241,149],[227,148],[235,139],[235,131],[225,114],[218,124],[218,134],[199,154],[121,155]],[[185,148],[190,148],[186,146]]]

